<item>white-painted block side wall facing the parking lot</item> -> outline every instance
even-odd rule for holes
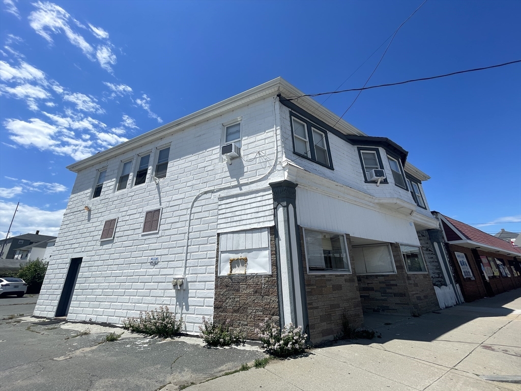
[[[220,155],[222,124],[239,116],[242,116],[243,159],[234,159],[230,166],[222,162]],[[138,315],[139,311],[168,305],[183,316],[186,332],[199,333],[202,316],[213,315],[221,193],[206,194],[195,203],[187,260],[188,289],[173,290],[172,276],[183,273],[190,205],[202,191],[238,182],[244,184],[267,174],[275,157],[274,126],[273,98],[269,97],[79,172],[34,314],[55,315],[70,259],[82,257],[69,320],[119,324],[127,316]],[[150,166],[153,167],[157,159],[156,146],[166,143],[171,143],[168,173],[160,181],[159,191],[150,180],[150,168],[146,184],[115,191],[122,160],[134,158],[131,184],[139,163],[137,154],[152,151]],[[263,156],[256,156],[258,152]],[[96,169],[103,166],[107,167],[107,174],[101,197],[90,199]],[[268,183],[282,177],[282,173],[274,173],[254,185],[222,192],[228,196],[224,201],[227,205],[221,207],[222,215],[236,216],[234,230],[242,229],[241,224],[266,226],[272,222],[267,223],[267,213],[260,213],[256,223],[251,208],[230,206],[231,195],[238,194],[241,199],[242,192],[264,189],[261,201],[265,212],[266,207],[271,212],[272,220]],[[85,205],[90,206],[91,212],[83,210]],[[158,207],[163,208],[159,233],[142,234],[145,212]],[[114,240],[101,242],[104,222],[115,217],[118,222]],[[156,266],[148,263],[152,256],[159,256]]]

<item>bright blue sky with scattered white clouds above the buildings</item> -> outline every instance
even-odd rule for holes
[[[421,4],[0,4],[0,235],[56,235],[65,166],[275,77],[332,91]],[[362,87],[387,43],[343,89]],[[521,59],[521,2],[429,0],[368,85]],[[317,98],[341,115],[356,93]],[[364,91],[344,119],[432,179],[432,210],[521,229],[521,66]]]

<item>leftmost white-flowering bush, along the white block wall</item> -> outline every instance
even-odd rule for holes
[[[123,328],[126,330],[162,338],[178,335],[182,326],[183,318],[176,320],[176,314],[170,312],[168,306],[161,306],[152,311],[141,311],[139,316],[127,317],[123,321]]]

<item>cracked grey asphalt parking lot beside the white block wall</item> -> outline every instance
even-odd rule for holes
[[[163,340],[113,327],[45,321],[31,316],[0,321],[3,391],[154,391],[199,383],[265,357],[247,345],[213,349],[196,337]],[[113,332],[123,334],[107,342]]]

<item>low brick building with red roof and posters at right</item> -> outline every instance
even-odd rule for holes
[[[521,287],[521,248],[439,212],[446,251],[465,301]]]

